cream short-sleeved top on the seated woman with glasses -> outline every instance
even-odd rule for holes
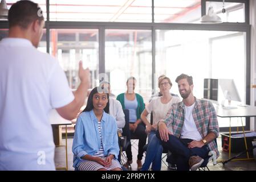
[[[172,97],[172,99],[166,103],[162,104],[161,97],[154,97],[151,102],[146,106],[148,113],[153,113],[153,124],[159,122],[160,119],[164,118],[168,113],[170,106],[174,103],[180,102],[180,98]]]

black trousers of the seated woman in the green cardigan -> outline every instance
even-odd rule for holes
[[[143,158],[143,147],[147,142],[147,134],[145,133],[145,125],[143,123],[140,123],[137,126],[137,129],[135,130],[135,132],[133,133],[133,131],[130,130],[130,135],[127,136],[127,140],[130,140],[131,138],[136,138],[139,139],[139,149],[138,149],[138,155],[137,155],[137,159],[141,160]],[[130,144],[127,146],[127,149],[125,150],[126,155],[127,155],[127,159],[128,160],[132,160],[132,145],[131,142]]]

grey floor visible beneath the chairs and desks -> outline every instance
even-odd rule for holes
[[[72,154],[72,138],[68,138],[67,140],[67,146],[68,146],[68,170],[74,170],[72,167],[73,163],[73,154]],[[135,141],[136,143],[136,141]],[[221,148],[221,138],[219,137],[217,139],[218,143],[218,150],[220,151],[220,159],[227,159],[228,153],[222,151]],[[65,140],[62,140],[62,144],[65,144]],[[131,164],[132,170],[137,170],[137,163],[136,163],[136,156],[137,156],[137,149],[136,144],[135,147],[132,148],[133,152],[133,163]],[[235,156],[237,154],[233,154]],[[164,155],[163,155],[164,156]],[[165,162],[165,159],[163,160]],[[144,158],[143,158],[144,162]],[[57,168],[59,167],[66,167],[66,152],[65,152],[65,146],[59,146],[55,148],[55,165]],[[222,163],[217,163],[216,165],[213,165],[212,162],[208,164],[208,167],[210,171],[256,171],[256,161],[255,160],[243,160],[243,161],[231,161],[229,163],[226,163],[223,165]],[[162,162],[162,168],[161,171],[168,171],[167,166]]]

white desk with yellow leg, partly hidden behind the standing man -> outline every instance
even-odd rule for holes
[[[65,125],[66,126],[66,167],[61,167],[61,168],[56,168],[56,169],[65,169],[66,171],[68,170],[68,163],[67,163],[67,125],[71,125],[72,122],[62,118],[59,113],[55,110],[52,109],[50,111],[50,123],[53,126],[61,126],[61,125]]]

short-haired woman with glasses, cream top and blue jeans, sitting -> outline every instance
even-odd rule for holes
[[[161,169],[161,156],[163,148],[161,144],[157,142],[158,140],[154,139],[156,136],[157,123],[160,121],[160,119],[165,117],[168,110],[174,103],[180,102],[180,98],[170,95],[170,88],[172,88],[170,78],[166,76],[160,77],[159,88],[162,96],[153,98],[153,100],[149,102],[147,107],[144,109],[143,113],[141,113],[141,119],[147,126],[146,133],[148,134],[147,154],[143,167],[141,168],[142,171],[147,171],[151,163],[153,170],[158,171]],[[147,115],[150,113],[153,114],[152,125],[147,119]]]

